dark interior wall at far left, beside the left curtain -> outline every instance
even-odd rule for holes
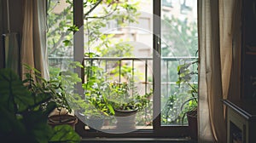
[[[25,0],[9,0],[10,31],[19,33],[21,43],[23,27],[23,5]],[[0,68],[4,67],[3,34],[8,32],[7,26],[7,0],[0,0]]]

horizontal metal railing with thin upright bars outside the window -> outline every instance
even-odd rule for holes
[[[59,67],[61,69],[67,68],[67,65],[70,61],[73,60],[73,57],[49,57],[49,66]],[[170,84],[175,84],[177,81],[177,66],[180,64],[181,60],[191,61],[197,60],[197,57],[162,57],[161,58],[161,74],[162,74],[162,86],[166,86],[166,92],[169,91]],[[116,79],[119,83],[122,82],[121,75],[124,73],[122,71],[122,66],[130,66],[131,71],[131,80],[134,81],[136,72],[143,74],[143,81],[139,83],[144,84],[145,92],[147,92],[148,84],[153,84],[153,58],[143,57],[143,58],[131,58],[131,57],[84,57],[83,66],[86,66],[86,63],[97,62],[98,66],[102,66],[104,72],[110,72],[113,70],[113,63],[115,69],[119,69],[118,78]],[[143,63],[139,66],[137,62]],[[175,63],[176,62],[176,63]],[[175,63],[175,64],[173,64]],[[138,70],[139,69],[139,70]],[[151,70],[148,72],[148,70]],[[84,83],[84,71],[81,73],[82,83]],[[172,74],[172,75],[171,75]],[[106,77],[107,79],[107,77]]]

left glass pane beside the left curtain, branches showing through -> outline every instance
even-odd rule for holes
[[[47,1],[47,46],[49,72],[66,70],[73,60],[73,4],[66,0]],[[66,43],[64,43],[66,41]]]

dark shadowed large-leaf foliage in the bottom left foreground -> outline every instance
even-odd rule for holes
[[[67,142],[79,142],[74,130],[58,133],[49,127],[47,118],[55,108],[48,92],[33,94],[10,69],[0,69],[0,137],[8,142],[49,142],[55,134],[65,134]],[[47,106],[44,103],[48,103]],[[44,105],[44,106],[43,106]],[[71,127],[56,127],[70,129]],[[69,135],[68,135],[69,134]],[[69,138],[73,136],[73,138]],[[63,137],[63,136],[62,136]],[[61,137],[61,138],[62,138]],[[60,141],[64,140],[58,138]]]

